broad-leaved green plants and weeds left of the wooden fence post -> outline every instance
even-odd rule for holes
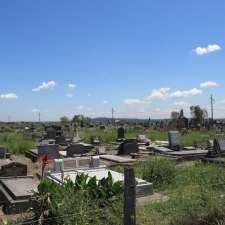
[[[99,182],[84,174],[74,183],[65,180],[61,186],[44,180],[38,186],[32,211],[42,225],[120,225],[122,192],[121,183],[114,183],[110,173]]]

